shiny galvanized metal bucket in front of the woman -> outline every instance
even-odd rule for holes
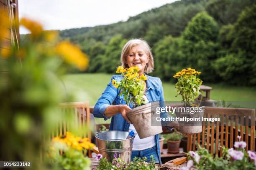
[[[110,162],[114,158],[121,158],[126,163],[130,163],[135,135],[126,139],[128,134],[127,131],[116,130],[95,133],[99,153]]]

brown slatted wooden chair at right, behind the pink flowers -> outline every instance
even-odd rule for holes
[[[199,144],[213,156],[222,156],[222,147],[233,148],[233,143],[238,141],[238,135],[246,142],[246,151],[255,150],[254,109],[205,107],[204,117],[219,117],[220,121],[204,121],[202,133],[189,134],[187,152],[197,150]],[[250,134],[249,130],[251,130]]]

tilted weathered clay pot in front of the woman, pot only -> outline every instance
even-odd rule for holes
[[[156,110],[151,109],[151,103],[129,110],[127,116],[141,139],[163,132],[161,122],[157,122],[158,125],[151,124],[151,120],[156,120],[156,117],[159,116],[156,114]]]

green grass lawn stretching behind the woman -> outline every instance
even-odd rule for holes
[[[110,82],[112,75],[103,73],[93,74],[70,74],[63,77],[66,89],[75,94],[76,101],[89,101],[93,106],[107,84]],[[256,101],[256,87],[236,87],[218,84],[205,84],[211,86],[210,92],[212,100],[225,101]],[[163,82],[164,98],[166,101],[180,101],[181,97],[175,97],[176,90],[174,84]],[[96,123],[109,123],[101,118],[96,118]]]

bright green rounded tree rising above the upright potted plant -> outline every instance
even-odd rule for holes
[[[212,67],[217,58],[219,45],[218,24],[206,12],[198,13],[182,32],[180,50],[184,54],[183,67],[193,67],[200,72],[202,80],[213,82],[218,79]]]

